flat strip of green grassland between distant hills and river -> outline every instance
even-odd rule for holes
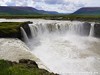
[[[5,15],[0,18],[25,18],[25,19],[52,19],[52,20],[80,20],[80,21],[100,21],[100,15],[74,15],[74,14],[62,14],[62,15]]]

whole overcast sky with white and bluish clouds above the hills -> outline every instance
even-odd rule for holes
[[[100,0],[0,0],[1,6],[31,6],[40,10],[72,13],[81,7],[99,7]]]

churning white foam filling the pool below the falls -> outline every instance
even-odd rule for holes
[[[96,41],[93,43],[89,38],[77,36],[45,37],[40,39],[41,45],[35,47],[33,54],[40,58],[52,72],[67,74],[100,71],[100,55],[89,49],[92,46],[91,44]],[[71,39],[74,39],[74,41]],[[100,45],[100,42],[96,43]]]

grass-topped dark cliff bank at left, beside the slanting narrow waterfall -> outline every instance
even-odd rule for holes
[[[20,27],[27,28],[29,22],[0,22],[0,37],[21,38]]]

